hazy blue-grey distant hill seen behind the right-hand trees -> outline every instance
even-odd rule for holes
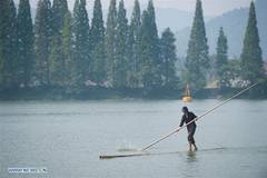
[[[256,1],[258,29],[260,34],[260,47],[263,49],[264,59],[267,59],[267,1]],[[248,20],[248,8],[235,9],[226,12],[217,18],[208,20],[206,31],[210,53],[215,53],[218,31],[224,27],[228,38],[230,57],[239,57],[243,48],[243,40]],[[178,56],[185,57],[190,36],[190,28],[185,28],[176,33]]]

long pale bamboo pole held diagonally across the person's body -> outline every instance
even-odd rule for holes
[[[180,127],[180,128],[178,128],[178,129],[175,129],[174,131],[169,132],[168,135],[162,136],[160,139],[158,139],[158,140],[151,142],[151,144],[147,145],[146,147],[144,147],[144,148],[141,149],[141,151],[145,151],[145,150],[151,148],[151,147],[155,146],[156,144],[158,144],[158,142],[165,140],[165,139],[167,139],[168,137],[172,136],[174,134],[179,132],[181,129],[186,128],[186,127],[187,127],[188,125],[190,125],[191,122],[199,120],[200,118],[202,118],[202,117],[205,117],[206,115],[212,112],[214,110],[216,110],[217,108],[221,107],[222,105],[226,105],[227,102],[229,102],[229,101],[233,100],[234,98],[236,98],[236,97],[243,95],[244,92],[248,91],[249,89],[254,88],[254,87],[257,86],[258,83],[259,83],[259,82],[256,82],[256,83],[251,85],[250,87],[241,90],[240,92],[236,93],[235,96],[230,97],[229,99],[227,99],[227,100],[218,103],[217,106],[215,106],[215,107],[211,108],[210,110],[204,112],[201,116],[199,116],[199,117],[197,117],[196,119],[191,120],[191,121],[188,122],[187,125],[185,125],[185,126],[182,126],[182,127]]]

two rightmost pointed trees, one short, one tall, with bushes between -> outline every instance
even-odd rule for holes
[[[220,87],[230,87],[234,79],[239,79],[243,86],[266,79],[254,2],[250,3],[240,61],[229,61],[227,51],[227,37],[221,28],[217,42],[216,60],[217,77]]]

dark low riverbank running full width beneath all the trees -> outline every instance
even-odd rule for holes
[[[218,99],[228,98],[243,88],[201,89],[192,93],[194,99]],[[63,88],[20,88],[0,90],[0,100],[101,100],[101,99],[181,99],[184,90],[170,89],[110,89],[103,87],[91,87],[79,91],[69,91]],[[267,89],[255,88],[245,95],[243,99],[266,99]]]

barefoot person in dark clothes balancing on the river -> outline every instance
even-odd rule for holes
[[[182,127],[185,122],[189,123],[190,121],[192,121],[194,119],[197,118],[197,116],[195,113],[188,111],[187,107],[182,107],[181,110],[184,112],[184,116],[180,121],[180,127]],[[190,125],[187,126],[189,151],[192,151],[192,146],[194,146],[194,150],[195,151],[197,150],[197,146],[196,146],[195,139],[194,139],[194,134],[196,131],[196,128],[197,128],[197,125],[195,121],[192,121]]]

